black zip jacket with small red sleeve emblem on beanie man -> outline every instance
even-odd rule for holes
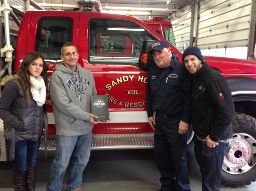
[[[216,143],[229,139],[235,109],[227,80],[207,62],[193,77],[193,131],[203,139],[209,135]]]

